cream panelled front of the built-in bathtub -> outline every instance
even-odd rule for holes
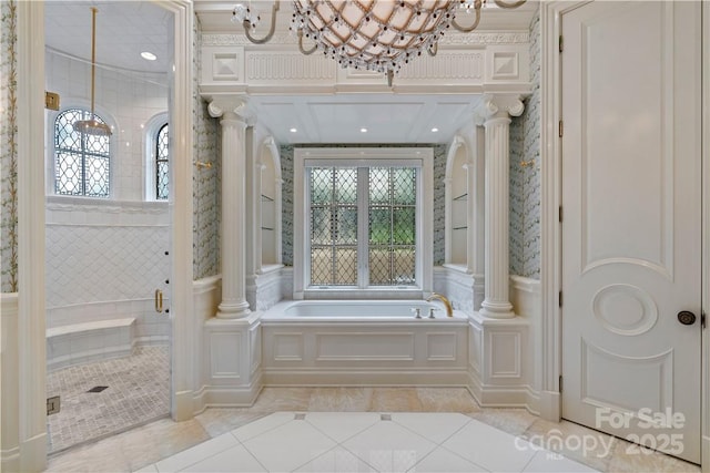
[[[264,319],[264,384],[466,385],[467,330],[466,318]]]

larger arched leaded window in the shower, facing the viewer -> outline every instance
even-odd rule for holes
[[[89,120],[91,112],[69,109],[54,121],[54,193],[109,197],[110,136],[77,132],[74,122]],[[94,114],[101,123],[104,121]]]

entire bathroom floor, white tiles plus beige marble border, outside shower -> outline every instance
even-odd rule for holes
[[[184,422],[162,419],[52,455],[47,471],[700,469],[523,409],[481,409],[460,388],[265,388],[251,408],[212,408]]]

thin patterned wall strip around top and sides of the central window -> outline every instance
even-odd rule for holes
[[[446,176],[445,145],[374,145],[374,144],[316,144],[300,147],[433,147],[434,148],[434,265],[444,264],[444,177]],[[293,151],[294,146],[280,148],[282,184],[282,257],[283,264],[293,266]]]

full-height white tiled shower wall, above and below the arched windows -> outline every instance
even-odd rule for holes
[[[90,65],[47,51],[47,88],[62,107],[87,106]],[[164,74],[98,68],[97,112],[114,125],[111,197],[53,195],[48,146],[47,327],[135,317],[142,341],[165,340],[169,325],[153,308],[155,289],[169,295],[168,203],[144,202],[148,122],[168,111]],[[57,112],[48,113],[51,136]]]

